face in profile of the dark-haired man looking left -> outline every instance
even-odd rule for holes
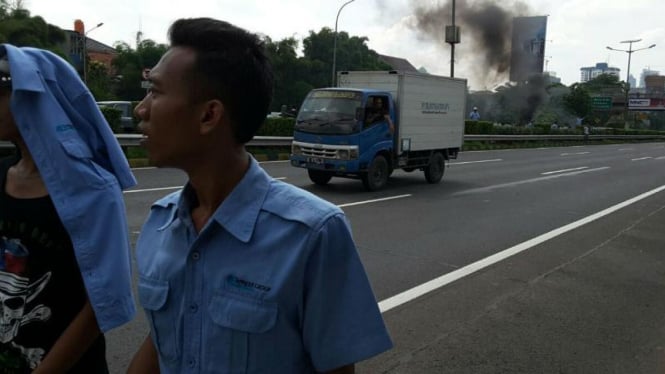
[[[169,49],[150,71],[151,88],[134,110],[146,136],[142,145],[156,166],[185,168],[196,158],[201,111],[190,99],[194,61],[191,49]]]

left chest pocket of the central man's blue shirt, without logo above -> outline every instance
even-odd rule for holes
[[[168,305],[169,282],[139,277],[139,303],[150,322],[150,334],[162,359],[178,359],[178,316],[175,305]],[[171,303],[173,304],[173,303]]]

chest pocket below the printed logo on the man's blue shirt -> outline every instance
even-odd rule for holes
[[[208,331],[206,365],[220,373],[245,373],[256,364],[251,357],[272,350],[265,337],[253,336],[270,332],[277,323],[277,303],[253,299],[229,292],[215,293],[208,304],[213,324]],[[250,347],[257,349],[251,354]]]

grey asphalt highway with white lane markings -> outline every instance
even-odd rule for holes
[[[270,175],[342,207],[395,348],[359,373],[665,372],[665,144],[463,152],[443,182],[385,189]],[[135,169],[132,241],[186,176]],[[107,335],[112,373],[147,332]]]

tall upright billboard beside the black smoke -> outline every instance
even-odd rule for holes
[[[547,16],[513,18],[510,80],[523,82],[543,73]]]

